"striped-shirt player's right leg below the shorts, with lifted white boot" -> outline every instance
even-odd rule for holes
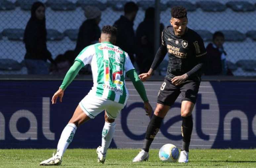
[[[102,143],[96,150],[98,154],[98,162],[104,163],[107,156],[107,149],[112,141],[115,132],[115,120],[107,117],[105,112],[105,125],[102,130]]]

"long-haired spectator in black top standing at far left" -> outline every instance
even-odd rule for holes
[[[23,42],[24,57],[28,74],[49,74],[47,59],[56,64],[46,46],[45,6],[41,2],[33,3],[31,17],[27,22]]]

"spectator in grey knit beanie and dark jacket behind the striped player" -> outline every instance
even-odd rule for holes
[[[79,28],[74,59],[85,47],[98,43],[101,36],[99,27],[101,21],[100,9],[94,6],[86,6],[84,8],[84,16],[86,20]]]

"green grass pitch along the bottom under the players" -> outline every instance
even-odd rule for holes
[[[41,167],[54,149],[0,149],[0,167]],[[56,150],[55,150],[56,151]],[[191,149],[189,163],[163,163],[158,150],[149,151],[149,161],[133,163],[139,149],[109,149],[104,164],[97,163],[96,149],[68,149],[60,167],[256,167],[256,149]],[[48,166],[49,167],[49,166]],[[58,166],[54,166],[58,167]]]

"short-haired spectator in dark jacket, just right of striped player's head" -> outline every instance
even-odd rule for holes
[[[132,63],[134,63],[134,54],[136,51],[135,33],[133,30],[133,21],[136,18],[139,8],[134,2],[127,2],[124,5],[124,16],[122,15],[114,26],[117,28],[116,45],[126,51]]]

